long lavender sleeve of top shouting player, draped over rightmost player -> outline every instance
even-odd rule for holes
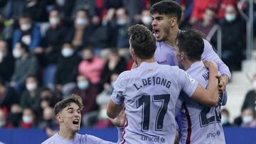
[[[217,53],[213,50],[213,47],[210,45],[210,43],[207,40],[203,39],[204,43],[204,49],[203,49],[203,55],[202,60],[213,60],[218,65],[218,69],[220,71],[220,74],[227,74],[228,78],[231,78],[231,72],[225,63],[220,60],[220,57],[218,57]]]

